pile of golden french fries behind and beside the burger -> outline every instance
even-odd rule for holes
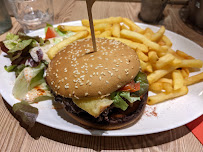
[[[94,20],[93,24],[96,37],[121,41],[137,52],[141,69],[147,74],[149,90],[156,93],[149,96],[149,105],[183,96],[188,93],[188,85],[203,80],[203,72],[189,76],[192,68],[203,66],[203,61],[183,51],[173,50],[164,26],[154,32],[150,28],[142,29],[132,20],[122,17]],[[58,29],[76,34],[52,47],[48,51],[51,59],[73,41],[91,37],[88,20],[82,20],[82,26],[59,25]]]

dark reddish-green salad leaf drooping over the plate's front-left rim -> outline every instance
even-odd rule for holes
[[[13,111],[18,115],[22,121],[29,127],[33,127],[37,116],[39,114],[38,109],[32,107],[26,102],[20,102],[13,105]]]

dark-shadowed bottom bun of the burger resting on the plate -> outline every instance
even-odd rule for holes
[[[87,119],[87,117],[83,117],[83,115],[78,115],[77,113],[72,113],[69,110],[69,107],[65,107],[67,114],[81,123],[82,125],[85,125],[90,128],[94,129],[102,129],[102,130],[115,130],[123,127],[127,127],[130,125],[135,124],[142,116],[146,103],[147,103],[147,98],[148,98],[148,92],[145,93],[141,101],[139,102],[139,105],[137,105],[137,108],[135,111],[131,112],[129,115],[125,116],[124,118],[119,119],[119,121],[114,121],[113,123],[98,123],[94,121],[94,118],[89,115],[90,118]],[[114,113],[114,114],[119,114],[119,113]]]

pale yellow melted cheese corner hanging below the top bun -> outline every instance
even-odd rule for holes
[[[73,102],[88,112],[90,115],[97,118],[107,107],[109,107],[113,100],[109,98],[83,98],[83,99],[73,99]]]

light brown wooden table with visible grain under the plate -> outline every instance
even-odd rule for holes
[[[179,17],[180,5],[168,5],[164,11],[165,18],[159,25],[183,35],[203,47],[203,36],[186,26]],[[87,18],[85,1],[54,0],[55,23],[81,20]],[[136,22],[140,3],[98,1],[93,6],[93,17],[110,16],[128,17]],[[10,32],[21,30],[12,18],[13,28]],[[158,25],[158,26],[159,26]],[[5,38],[0,36],[0,40]],[[2,63],[1,63],[2,64]],[[143,136],[133,137],[94,137],[53,129],[37,123],[31,130],[20,126],[11,107],[0,98],[0,151],[168,151],[200,152],[201,143],[186,126]]]

